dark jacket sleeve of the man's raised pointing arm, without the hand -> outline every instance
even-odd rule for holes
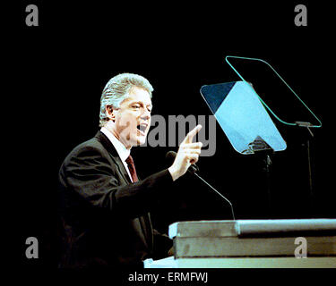
[[[93,207],[135,217],[150,210],[173,184],[168,170],[142,181],[120,185],[120,171],[99,148],[82,147],[66,160],[60,172],[61,182]],[[155,205],[154,205],[155,206]]]

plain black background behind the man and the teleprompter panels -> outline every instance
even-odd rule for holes
[[[39,27],[26,26],[27,4],[38,5]],[[307,27],[294,24],[296,4],[306,4]],[[4,150],[5,193],[11,195],[6,217],[11,235],[19,231],[15,265],[56,268],[57,172],[73,147],[99,130],[99,98],[111,77],[127,71],[150,80],[153,114],[211,114],[202,85],[239,80],[226,55],[271,63],[323,122],[311,142],[314,188],[307,184],[306,130],[278,123],[288,148],[273,156],[271,207],[261,159],[237,154],[218,124],[216,154],[198,163],[202,177],[231,200],[237,219],[336,217],[332,19],[332,9],[308,1],[15,4],[6,29],[9,90],[2,105],[9,114],[4,145],[11,149]],[[134,148],[142,178],[167,167],[170,149]],[[160,231],[176,221],[231,219],[225,201],[202,182],[185,176],[180,187],[153,213]],[[30,236],[39,239],[35,261],[24,256]]]

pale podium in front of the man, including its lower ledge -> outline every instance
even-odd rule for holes
[[[178,222],[177,268],[336,268],[336,219]]]

